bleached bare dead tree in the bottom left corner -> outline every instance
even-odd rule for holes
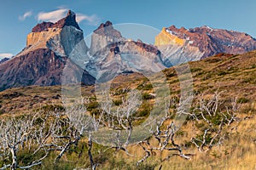
[[[32,153],[32,156],[35,156],[39,151],[42,151],[42,143],[38,143],[37,140],[37,136],[42,129],[38,128],[37,120],[38,114],[24,117],[10,116],[8,118],[1,119],[0,156],[7,161],[5,161],[5,165],[0,169],[27,169],[42,164],[44,158],[48,156],[48,152],[46,150],[43,150],[43,156],[27,163],[26,166],[20,166],[20,162],[18,161],[18,156],[21,150],[28,150]],[[41,135],[42,139],[48,138],[47,133],[41,133]],[[9,161],[8,157],[11,157],[11,161]]]

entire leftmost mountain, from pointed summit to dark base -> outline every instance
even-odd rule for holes
[[[64,70],[66,83],[94,84],[95,78],[68,58],[73,51],[84,55],[88,48],[72,11],[55,24],[38,24],[28,34],[26,48],[0,64],[0,90],[30,85],[61,85]]]

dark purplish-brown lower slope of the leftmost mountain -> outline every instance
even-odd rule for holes
[[[30,85],[61,85],[62,71],[66,64],[70,75],[65,77],[69,77],[70,82],[83,82],[88,85],[95,82],[95,78],[78,65],[67,63],[66,57],[58,56],[50,49],[36,49],[1,64],[0,91]],[[82,80],[77,80],[79,77]]]

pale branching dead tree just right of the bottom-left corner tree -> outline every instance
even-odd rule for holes
[[[49,127],[49,133],[47,133],[47,141],[42,138],[45,134],[44,129],[41,128],[38,136],[35,139],[40,144],[40,149],[45,150],[47,153],[55,152],[55,163],[64,156],[67,151],[72,151],[73,147],[79,144],[79,141],[87,133],[88,138],[88,156],[90,158],[91,169],[96,169],[96,164],[92,159],[91,149],[92,140],[90,138],[90,131],[94,131],[98,122],[95,116],[90,116],[86,112],[84,105],[74,105],[67,108],[64,112],[53,111],[47,113],[44,116],[43,123]],[[44,127],[44,126],[43,126]]]

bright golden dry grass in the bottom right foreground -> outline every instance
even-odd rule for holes
[[[189,127],[191,127],[190,123],[183,126],[182,129],[188,133],[183,137],[177,137],[177,143],[182,143],[182,141],[189,139]],[[154,139],[150,139],[149,142],[152,145],[157,144]],[[126,164],[135,164],[136,161],[144,156],[143,150],[137,145],[132,145],[128,150],[132,157],[119,151],[114,156],[115,161],[125,160]],[[192,156],[192,159],[189,161],[181,157],[172,156],[169,161],[161,162],[160,158],[164,158],[174,152],[164,152],[162,155],[160,155],[160,152],[156,152],[154,156],[148,158],[146,163],[152,165],[157,164],[155,169],[161,167],[162,170],[256,169],[256,116],[242,121],[237,129],[230,134],[229,138],[224,140],[222,145],[214,147],[207,153],[200,152],[195,147],[189,147],[188,150],[184,150],[183,152],[192,153],[195,156]],[[102,167],[107,168],[108,163]]]

